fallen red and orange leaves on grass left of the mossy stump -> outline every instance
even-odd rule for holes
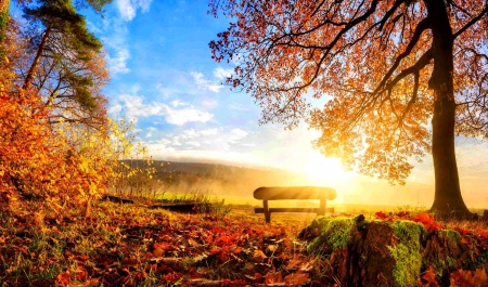
[[[0,214],[1,286],[290,286],[310,282],[296,238],[307,222],[246,212],[180,214],[100,203],[73,210]]]

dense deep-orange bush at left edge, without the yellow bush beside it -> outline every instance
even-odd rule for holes
[[[49,112],[34,91],[0,94],[0,186],[9,208],[37,199],[59,210],[105,191],[103,156],[70,144]]]

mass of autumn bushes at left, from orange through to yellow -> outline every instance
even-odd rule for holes
[[[153,179],[154,161],[116,122],[106,120],[98,129],[51,125],[50,106],[34,90],[2,92],[0,105],[0,184],[8,208],[35,200],[61,211],[87,207],[110,184],[120,195],[153,197],[168,185]],[[133,156],[146,165],[120,161]]]

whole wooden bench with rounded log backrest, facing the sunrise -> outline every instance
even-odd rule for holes
[[[310,212],[317,214],[325,214],[326,211],[334,212],[334,208],[326,208],[326,200],[335,199],[337,193],[334,188],[323,186],[275,186],[259,187],[254,191],[254,198],[262,200],[262,208],[256,207],[255,213],[265,213],[266,222],[271,221],[271,212]],[[319,199],[319,208],[269,208],[268,200],[283,199]]]

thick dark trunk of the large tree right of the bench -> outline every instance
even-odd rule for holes
[[[454,149],[455,101],[453,91],[452,29],[444,1],[425,0],[433,34],[434,70],[428,87],[434,90],[432,154],[435,197],[431,211],[466,216],[461,196]]]

